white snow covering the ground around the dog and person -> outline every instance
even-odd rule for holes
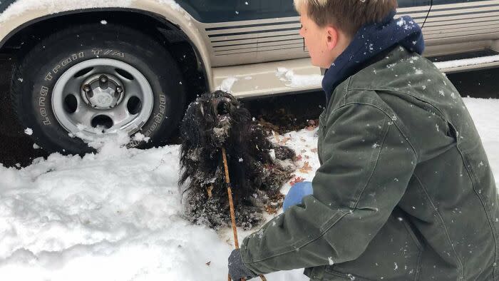
[[[465,103],[499,179],[499,101]],[[274,136],[302,156],[296,175],[307,180],[319,167],[315,133]],[[116,142],[83,158],[52,154],[26,168],[0,165],[0,280],[227,280],[231,230],[182,218],[179,147]],[[240,240],[249,233],[239,230]],[[302,270],[267,279],[308,280]]]

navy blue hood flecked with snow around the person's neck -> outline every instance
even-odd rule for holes
[[[423,53],[424,40],[421,27],[410,16],[393,19],[395,11],[381,23],[366,24],[354,36],[350,45],[331,64],[322,79],[322,88],[329,98],[339,83],[366,67],[371,58],[384,53],[395,45],[401,45],[416,53]]]

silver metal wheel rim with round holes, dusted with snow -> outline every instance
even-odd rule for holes
[[[153,112],[153,89],[137,68],[95,58],[68,69],[53,88],[57,121],[73,136],[94,141],[109,134],[137,132]]]

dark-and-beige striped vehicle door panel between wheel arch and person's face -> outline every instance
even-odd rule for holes
[[[213,66],[307,56],[293,0],[183,0],[179,4],[202,22]]]

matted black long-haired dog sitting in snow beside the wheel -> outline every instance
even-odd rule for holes
[[[179,183],[186,184],[186,214],[193,223],[211,228],[230,225],[222,147],[238,226],[252,228],[262,222],[265,206],[277,205],[279,199],[282,203],[279,188],[294,170],[282,163],[292,164],[294,150],[271,143],[230,93],[215,91],[197,98],[187,108],[180,133]]]

